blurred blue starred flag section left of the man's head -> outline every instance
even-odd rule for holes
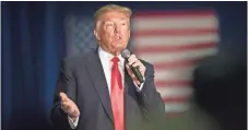
[[[67,55],[86,52],[96,48],[97,43],[93,34],[94,22],[92,16],[68,15],[64,22]]]

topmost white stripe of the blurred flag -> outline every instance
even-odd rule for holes
[[[215,16],[178,16],[178,17],[134,17],[133,29],[178,29],[178,28],[216,28]],[[135,24],[137,23],[137,24]],[[152,23],[152,24],[151,24]]]

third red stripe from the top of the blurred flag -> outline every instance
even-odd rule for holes
[[[152,43],[151,43],[152,44]],[[142,44],[140,44],[141,46]],[[185,50],[194,50],[194,49],[205,49],[205,48],[214,48],[216,46],[215,42],[212,43],[192,43],[190,45],[180,45],[180,46],[150,46],[150,47],[137,47],[134,51],[138,54],[146,54],[146,52],[177,52]]]

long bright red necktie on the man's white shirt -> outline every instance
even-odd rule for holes
[[[123,130],[123,87],[118,69],[118,57],[111,59],[111,108],[114,114],[115,130]]]

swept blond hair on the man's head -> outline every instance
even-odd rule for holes
[[[101,19],[101,16],[109,11],[119,11],[125,13],[128,17],[131,16],[132,11],[131,9],[127,8],[127,7],[121,7],[121,5],[117,5],[117,4],[107,4],[102,7],[101,9],[98,9],[95,14],[94,14],[94,27],[96,27],[97,25],[97,21]]]

